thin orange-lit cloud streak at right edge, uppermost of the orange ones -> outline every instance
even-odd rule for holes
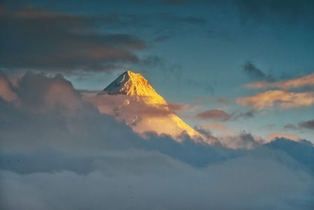
[[[281,80],[278,82],[269,82],[262,80],[256,83],[250,83],[245,85],[245,87],[254,88],[254,89],[263,89],[263,88],[279,88],[280,90],[290,90],[294,88],[314,86],[314,73],[311,73],[307,76],[301,78],[294,78],[291,80]]]

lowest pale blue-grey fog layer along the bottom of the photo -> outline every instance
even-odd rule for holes
[[[203,169],[159,153],[125,151],[99,158],[88,174],[71,170],[29,174],[1,170],[1,207],[311,209],[312,177],[284,153],[258,153]],[[229,202],[225,202],[226,196]]]

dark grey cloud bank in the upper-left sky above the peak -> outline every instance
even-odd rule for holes
[[[94,71],[95,65],[139,62],[135,52],[147,48],[143,39],[101,34],[94,30],[97,21],[97,17],[38,8],[5,11],[1,14],[1,66]]]

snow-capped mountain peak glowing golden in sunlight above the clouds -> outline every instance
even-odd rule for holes
[[[124,120],[134,132],[145,137],[149,132],[167,134],[177,141],[185,135],[201,139],[201,134],[192,129],[171,112],[166,100],[161,97],[140,73],[125,71],[97,94],[110,101],[110,114]]]

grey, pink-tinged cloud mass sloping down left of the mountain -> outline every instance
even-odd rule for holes
[[[136,137],[129,127],[101,115],[92,104],[83,101],[80,93],[59,74],[48,77],[43,73],[26,73],[17,85],[11,92],[17,95],[19,104],[0,97],[3,148],[28,148],[33,144],[59,146],[67,142],[64,148],[88,149],[101,141],[108,148],[124,147],[129,144],[122,144],[121,135],[129,132],[129,138]],[[121,126],[126,127],[126,132],[115,134]],[[88,138],[91,144],[80,144]]]

